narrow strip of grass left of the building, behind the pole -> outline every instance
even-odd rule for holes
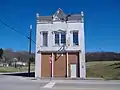
[[[7,73],[7,72],[26,72],[28,67],[22,68],[15,68],[15,67],[0,67],[0,72]],[[31,71],[34,71],[34,65],[31,65]]]

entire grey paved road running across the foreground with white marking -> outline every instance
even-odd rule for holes
[[[0,75],[0,90],[120,90],[120,81],[31,80]]]

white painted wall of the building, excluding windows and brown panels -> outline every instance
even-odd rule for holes
[[[59,14],[59,10],[56,12],[57,14],[53,15],[52,22],[48,21],[40,21],[40,15],[37,14],[37,22],[36,22],[36,58],[35,58],[35,77],[41,77],[41,52],[42,51],[58,51],[60,46],[55,45],[55,35],[54,31],[62,30],[66,32],[66,42],[69,40],[69,46],[65,47],[66,51],[79,51],[80,56],[80,77],[86,78],[86,66],[85,66],[85,44],[84,44],[84,21],[83,21],[83,12],[80,13],[81,20],[68,20],[67,22],[61,22],[60,20],[55,21],[57,15]],[[48,32],[48,46],[43,45],[42,32]],[[79,45],[73,45],[73,34],[72,31],[78,31],[78,41]],[[69,39],[68,39],[69,38]]]

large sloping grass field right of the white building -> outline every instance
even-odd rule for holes
[[[120,77],[120,61],[87,62],[87,77],[118,79]],[[117,68],[118,67],[118,68]]]

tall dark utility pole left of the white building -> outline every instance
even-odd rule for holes
[[[28,77],[30,77],[30,59],[31,59],[31,36],[32,36],[32,25],[30,25],[30,34],[29,34],[29,60],[28,60]]]

